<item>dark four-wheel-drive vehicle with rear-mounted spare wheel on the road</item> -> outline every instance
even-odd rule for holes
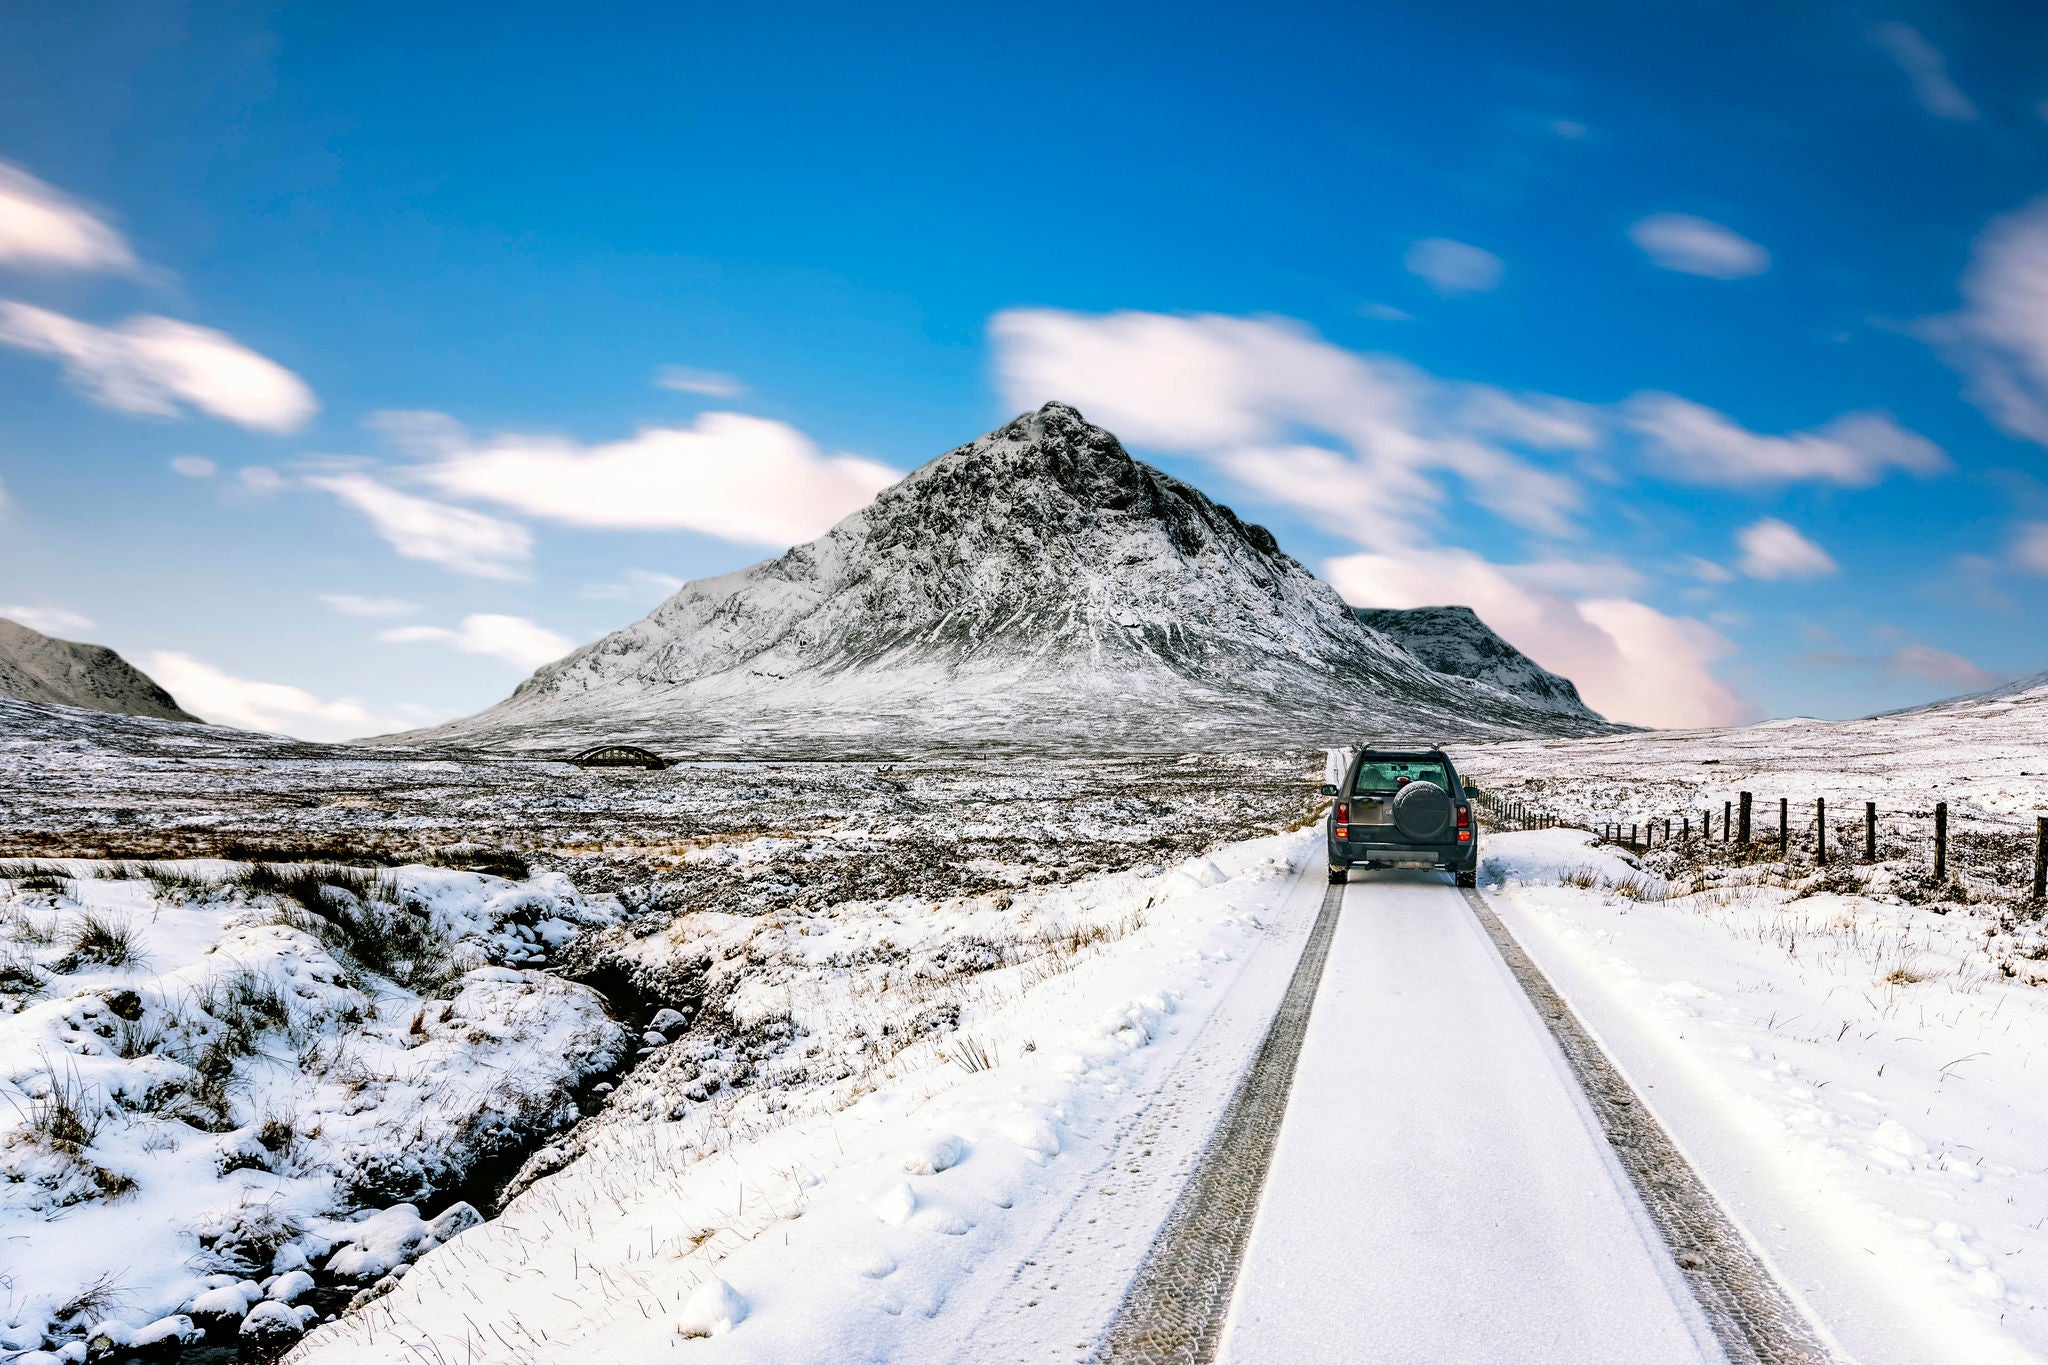
[[[1458,886],[1479,876],[1473,794],[1442,749],[1360,749],[1343,784],[1325,784],[1329,880],[1352,868],[1444,868]]]

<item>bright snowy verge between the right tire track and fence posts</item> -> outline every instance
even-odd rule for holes
[[[2048,993],[2001,966],[2038,945],[2038,917],[1860,882],[1638,860],[1569,829],[1491,835],[1483,866],[1516,937],[1853,1359],[2044,1359]]]

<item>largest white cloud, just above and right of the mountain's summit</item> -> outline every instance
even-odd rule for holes
[[[1522,452],[1599,442],[1581,405],[1446,383],[1280,319],[1012,309],[989,334],[1012,405],[1075,403],[1133,444],[1208,458],[1360,544],[1430,538],[1438,471],[1518,526],[1571,534],[1577,483]],[[1341,450],[1292,440],[1303,430]]]

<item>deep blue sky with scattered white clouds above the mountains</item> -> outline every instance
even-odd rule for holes
[[[1624,718],[2048,667],[2048,12],[1415,10],[10,4],[0,614],[395,729],[1065,397]]]

